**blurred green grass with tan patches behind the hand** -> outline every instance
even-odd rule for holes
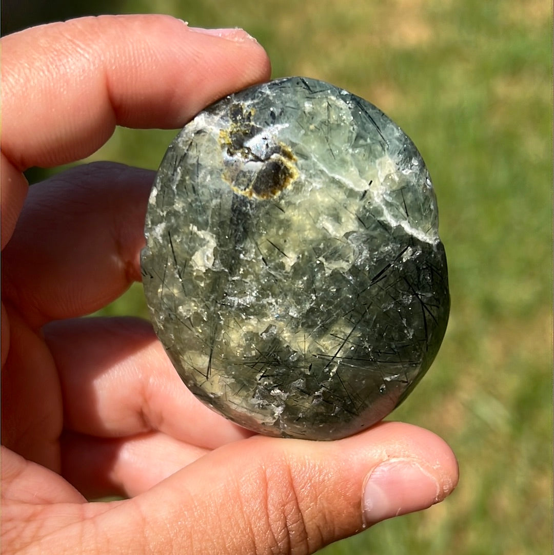
[[[75,8],[60,9],[67,17]],[[458,455],[460,485],[428,511],[321,553],[550,553],[550,2],[127,0],[87,9],[243,27],[266,47],[273,77],[319,78],[370,100],[429,167],[451,316],[429,374],[391,418],[444,437]],[[156,168],[174,135],[118,129],[92,159]],[[140,285],[104,313],[145,315]]]

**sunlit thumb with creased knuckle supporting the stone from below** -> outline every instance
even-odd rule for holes
[[[333,442],[256,436],[212,451],[128,501],[135,510],[126,518],[129,533],[120,521],[109,537],[128,549],[140,542],[134,547],[148,553],[313,553],[438,503],[457,482],[446,443],[399,422]]]

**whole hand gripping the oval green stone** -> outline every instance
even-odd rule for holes
[[[116,124],[181,127],[267,79],[255,41],[121,16],[2,49],[4,553],[313,553],[453,490],[430,432],[252,436],[195,400],[146,322],[78,319],[140,280],[153,173],[81,165],[29,189],[21,172],[86,157]],[[129,498],[87,501],[106,495]]]

